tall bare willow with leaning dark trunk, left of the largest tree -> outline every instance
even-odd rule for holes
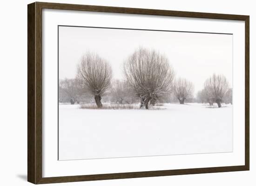
[[[102,108],[101,96],[111,84],[112,70],[98,54],[88,52],[77,66],[77,80],[83,90],[94,96],[98,108]]]

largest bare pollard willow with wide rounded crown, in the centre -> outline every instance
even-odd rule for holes
[[[155,50],[139,48],[127,58],[123,66],[125,77],[136,96],[141,99],[141,108],[148,109],[149,102],[168,92],[174,80],[174,71],[168,59]]]

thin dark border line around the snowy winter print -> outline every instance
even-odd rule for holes
[[[58,90],[57,90],[57,102],[58,102],[58,139],[57,139],[57,148],[58,148],[58,153],[57,153],[57,160],[58,161],[63,161],[60,160],[59,158],[59,27],[80,27],[80,28],[101,28],[101,29],[116,29],[116,30],[138,30],[138,31],[158,31],[158,32],[183,32],[183,33],[205,33],[205,34],[224,34],[224,35],[233,35],[233,33],[219,33],[219,32],[191,32],[191,31],[173,31],[173,30],[150,30],[150,29],[136,29],[136,28],[113,28],[113,27],[98,27],[98,26],[70,26],[70,25],[58,25],[57,26],[57,40],[58,40],[58,63],[57,63],[57,68],[58,68]],[[232,38],[232,52],[233,52],[233,38]],[[232,71],[233,71],[233,55],[232,55]],[[233,77],[233,73],[232,73]],[[233,78],[232,78],[232,85],[233,85]],[[233,94],[233,93],[232,93]],[[233,118],[233,107],[232,107],[232,118]],[[233,130],[233,121],[232,121],[232,130]],[[233,132],[232,132],[233,133]],[[234,142],[234,134],[232,134],[232,151],[230,152],[216,152],[216,153],[232,153],[234,151],[233,149],[233,142]],[[193,154],[212,154],[212,153],[193,153]],[[152,155],[152,156],[169,156],[169,155],[186,155],[186,154],[168,154],[168,155]],[[189,155],[189,154],[188,154]],[[148,157],[148,156],[129,156],[129,157],[110,157],[110,158],[136,158],[136,157]],[[95,159],[109,159],[109,158],[90,158],[90,159],[75,159],[75,160],[95,160]],[[65,160],[64,160],[65,161]]]

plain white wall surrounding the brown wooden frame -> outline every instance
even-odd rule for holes
[[[250,15],[250,171],[207,173],[55,185],[67,186],[216,186],[255,185],[256,11],[253,0],[55,0],[47,2]],[[0,6],[0,185],[31,185],[27,180],[27,4],[5,0]]]

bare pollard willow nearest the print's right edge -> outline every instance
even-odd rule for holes
[[[205,81],[204,89],[208,97],[216,102],[220,108],[223,98],[229,90],[229,83],[223,75],[213,74]]]

